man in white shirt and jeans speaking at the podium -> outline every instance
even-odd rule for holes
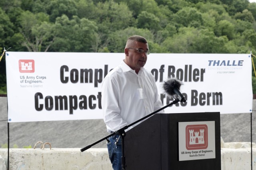
[[[129,37],[124,53],[125,59],[102,82],[102,110],[109,133],[163,107],[154,76],[144,68],[150,54],[147,40],[139,35]],[[108,138],[107,147],[113,169],[121,170],[120,135]]]

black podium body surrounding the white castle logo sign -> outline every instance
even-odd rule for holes
[[[215,158],[180,160],[179,123],[208,121],[214,123]],[[127,131],[124,144],[126,170],[221,170],[220,113],[157,113]]]

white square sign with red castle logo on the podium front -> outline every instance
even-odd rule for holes
[[[216,158],[215,121],[178,123],[179,161]]]

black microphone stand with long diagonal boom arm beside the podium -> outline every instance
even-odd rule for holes
[[[183,98],[184,98],[184,97],[183,97]],[[138,123],[138,122],[140,122],[140,121],[142,121],[142,120],[144,120],[144,119],[146,119],[146,118],[148,118],[148,117],[150,117],[150,116],[156,114],[157,112],[159,112],[159,111],[165,109],[166,107],[172,106],[172,105],[174,105],[174,104],[176,104],[176,103],[178,103],[178,102],[180,102],[180,101],[184,101],[183,98],[182,98],[181,100],[180,100],[179,98],[177,98],[177,99],[175,99],[172,103],[170,103],[170,104],[168,104],[168,105],[166,105],[166,106],[164,106],[164,107],[162,107],[162,108],[160,108],[160,109],[154,111],[153,113],[150,113],[149,115],[146,115],[145,117],[142,117],[141,119],[138,119],[137,121],[134,121],[134,122],[131,123],[130,125],[126,125],[126,126],[122,127],[121,129],[119,129],[119,130],[117,130],[117,131],[111,133],[110,135],[108,135],[108,136],[106,136],[106,137],[104,137],[104,138],[102,138],[102,139],[100,139],[100,140],[98,140],[98,141],[92,143],[91,145],[88,145],[88,146],[86,146],[86,147],[80,149],[81,152],[84,152],[85,150],[89,149],[90,147],[96,145],[97,143],[100,143],[101,141],[104,141],[105,139],[108,139],[109,137],[112,137],[112,136],[115,135],[115,134],[116,134],[116,135],[120,135],[120,136],[122,137],[122,170],[125,170],[124,137],[126,136],[126,133],[125,133],[124,130],[125,130],[125,129],[128,129],[128,127],[130,127],[130,126],[132,126],[132,125],[134,125],[134,124],[136,124],[136,123]],[[184,99],[185,99],[185,98],[184,98]],[[186,102],[186,100],[185,100],[185,102]]]

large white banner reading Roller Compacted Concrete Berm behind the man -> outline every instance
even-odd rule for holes
[[[34,53],[6,55],[9,122],[102,119],[101,83],[123,53]],[[178,77],[187,99],[166,113],[249,113],[249,54],[150,54],[145,68],[155,76],[165,105],[173,101],[163,81]]]

